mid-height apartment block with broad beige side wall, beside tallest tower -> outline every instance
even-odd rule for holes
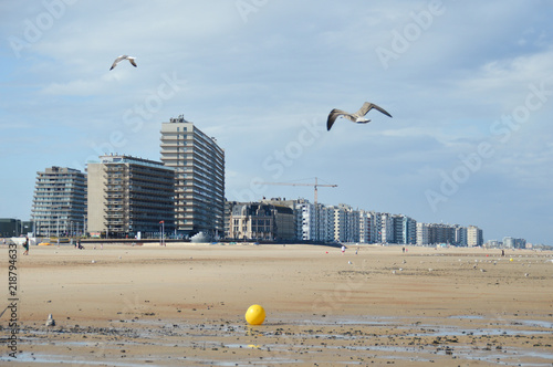
[[[175,230],[173,168],[159,161],[108,155],[88,164],[87,172],[91,234],[134,238]]]

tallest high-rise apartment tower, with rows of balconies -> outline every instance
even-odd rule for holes
[[[182,116],[161,124],[161,161],[175,169],[176,226],[180,233],[225,232],[225,151]]]

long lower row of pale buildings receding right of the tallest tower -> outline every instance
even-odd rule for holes
[[[237,241],[483,244],[482,230],[476,226],[418,223],[404,214],[315,205],[305,199],[227,202],[226,212],[226,235]]]

